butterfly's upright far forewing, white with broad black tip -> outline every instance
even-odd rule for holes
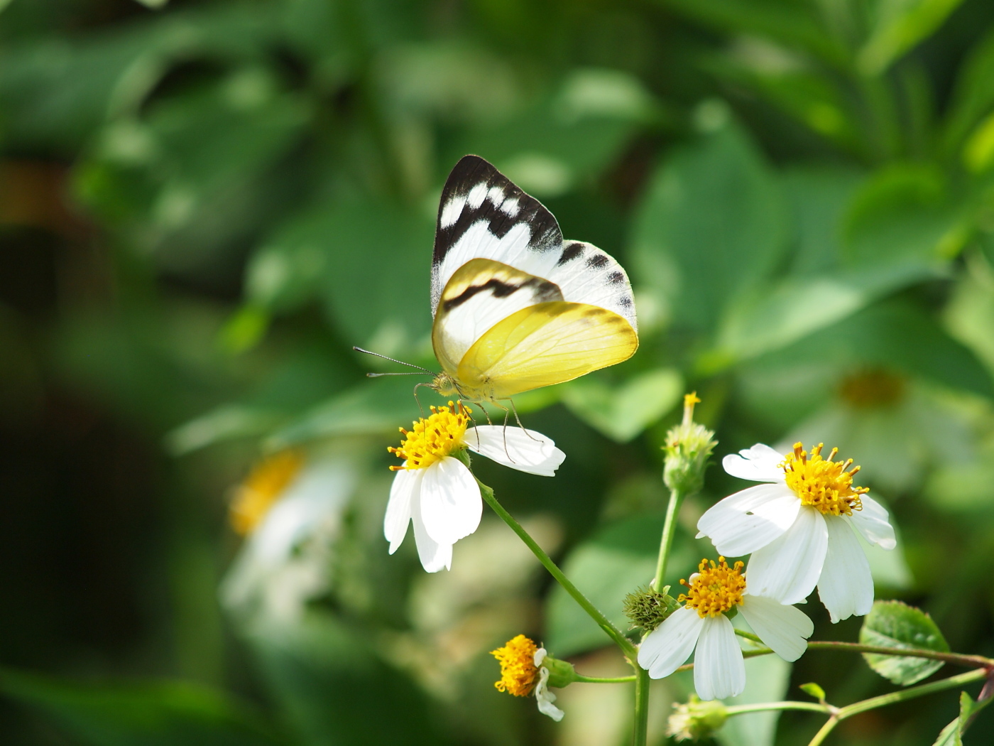
[[[476,155],[459,160],[438,204],[431,258],[431,312],[445,284],[472,259],[492,259],[548,279],[563,234],[542,203]]]

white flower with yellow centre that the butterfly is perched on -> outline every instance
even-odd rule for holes
[[[452,566],[452,545],[476,530],[483,514],[480,488],[457,457],[463,449],[542,476],[553,476],[566,454],[541,433],[523,428],[482,425],[470,428],[471,410],[462,402],[431,407],[431,415],[401,428],[405,440],[388,449],[404,459],[390,490],[383,532],[390,553],[401,546],[414,523],[414,543],[429,573]]]

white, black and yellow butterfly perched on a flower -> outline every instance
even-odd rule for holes
[[[631,284],[596,247],[490,163],[467,155],[442,189],[431,260],[442,396],[493,402],[631,357]]]

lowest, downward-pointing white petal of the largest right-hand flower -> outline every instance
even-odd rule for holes
[[[873,606],[870,562],[849,521],[827,516],[828,555],[818,579],[818,597],[828,609],[832,624],[869,614]]]

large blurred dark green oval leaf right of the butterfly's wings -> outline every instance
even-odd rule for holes
[[[710,130],[667,158],[638,208],[631,269],[675,322],[708,331],[779,262],[786,213],[725,105],[709,102],[699,118]]]

